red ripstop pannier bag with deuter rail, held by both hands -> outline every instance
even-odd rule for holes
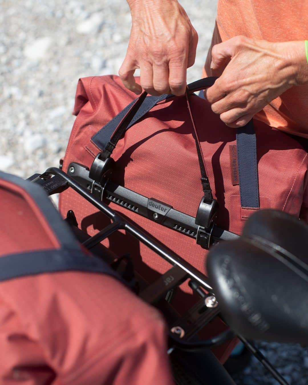
[[[240,234],[244,221],[259,208],[280,209],[307,221],[306,150],[293,137],[256,120],[255,132],[251,123],[250,128],[237,132],[227,127],[206,100],[193,94],[214,80],[206,78],[189,85],[183,97],[146,97],[143,112],[139,109],[138,118],[129,118],[131,127],[112,152],[115,165],[110,179],[195,217],[203,196],[200,158],[193,135],[196,129],[213,198],[219,204],[215,220],[218,226]],[[117,76],[79,80],[74,107],[77,118],[64,157],[65,172],[69,172],[71,162],[90,168],[97,154],[104,154],[115,128],[125,125],[134,105],[140,104],[142,96],[134,101],[135,97]],[[196,244],[196,239],[112,201],[110,207],[206,274],[206,251]],[[80,227],[90,235],[108,224],[101,213],[72,190],[60,195],[59,209],[63,216],[73,209]],[[104,244],[118,255],[130,253],[135,269],[149,282],[169,268],[166,261],[129,234],[117,233]],[[172,305],[184,312],[191,306],[191,299],[191,289],[183,284]],[[216,318],[205,328],[204,337],[225,327]],[[214,348],[221,362],[228,358],[235,343],[234,339]]]

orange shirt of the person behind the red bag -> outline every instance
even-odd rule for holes
[[[308,40],[308,1],[218,0],[204,77],[214,75],[210,69],[213,45],[237,35],[270,42]],[[305,52],[304,44],[303,50]],[[308,138],[308,85],[290,88],[255,118],[271,127]]]

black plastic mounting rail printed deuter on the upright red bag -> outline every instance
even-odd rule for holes
[[[213,201],[212,205],[208,205],[209,208],[201,202],[198,210],[199,216],[197,213],[198,219],[196,219],[175,210],[164,202],[154,198],[147,198],[126,187],[119,186],[107,177],[103,177],[101,182],[97,183],[90,178],[89,169],[82,164],[70,163],[67,173],[100,200],[111,201],[153,222],[160,223],[162,226],[194,238],[204,249],[208,249],[209,246],[221,240],[238,238],[237,234],[220,229],[214,224],[214,214],[218,208],[216,201]],[[207,216],[209,219],[206,218]],[[202,224],[203,221],[209,228]]]

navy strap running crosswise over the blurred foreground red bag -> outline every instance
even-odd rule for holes
[[[0,258],[0,281],[59,271],[103,273],[122,281],[107,263],[93,255],[86,255],[81,250],[79,253],[75,249],[40,250]]]

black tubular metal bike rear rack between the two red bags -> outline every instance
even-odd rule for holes
[[[174,348],[194,352],[200,351],[220,345],[233,338],[233,332],[231,330],[227,330],[224,333],[208,340],[191,342],[198,331],[203,329],[204,326],[213,320],[213,318],[219,316],[219,304],[216,301],[214,289],[211,287],[208,278],[180,256],[173,253],[171,250],[141,230],[137,229],[136,226],[122,217],[121,214],[116,213],[114,210],[109,208],[107,204],[102,202],[102,195],[97,196],[97,194],[93,193],[93,186],[91,186],[90,189],[87,188],[87,186],[82,186],[73,177],[69,176],[57,167],[51,167],[43,174],[34,174],[28,178],[28,180],[40,184],[49,196],[63,192],[70,187],[111,220],[111,223],[108,226],[83,242],[83,245],[86,248],[92,249],[94,246],[100,244],[101,241],[108,238],[111,234],[120,229],[124,229],[171,264],[171,268],[166,273],[161,275],[158,280],[154,281],[151,285],[147,285],[146,288],[139,293],[139,296],[144,301],[157,305],[162,299],[168,298],[168,294],[171,293],[174,288],[181,285],[187,279],[190,280],[189,286],[193,291],[198,293],[201,299],[193,305],[186,314],[179,316],[176,321],[173,320],[169,325],[169,342],[171,347],[169,348],[168,353],[171,353]],[[185,216],[186,214],[183,215]],[[67,219],[71,223],[75,223],[72,211],[69,211]],[[188,220],[190,219],[188,218]],[[217,231],[218,233],[220,232],[220,234],[223,233],[220,229]],[[232,233],[229,233],[231,234],[231,236],[229,236],[228,233],[229,232],[225,233],[226,239],[238,237],[236,234]],[[167,301],[164,301],[164,305],[166,304]],[[266,369],[269,370],[269,372],[281,385],[288,385],[280,373],[273,368],[273,366],[251,342],[247,341],[243,338],[243,336],[238,337],[248,350],[262,363],[262,365],[264,365],[264,367],[266,367]]]

